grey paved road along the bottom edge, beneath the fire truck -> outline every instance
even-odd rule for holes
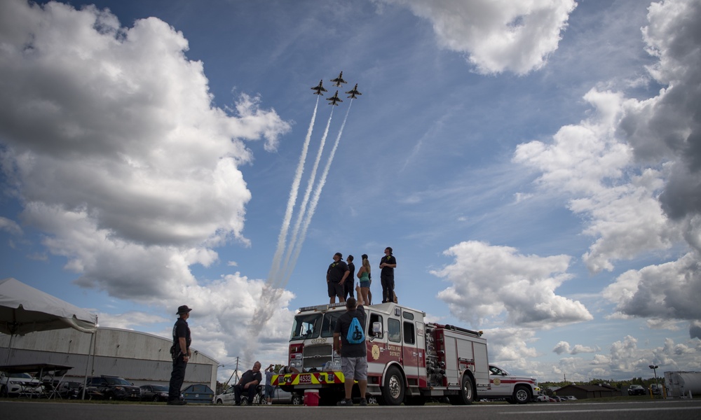
[[[346,412],[346,413],[343,413]],[[477,404],[470,407],[427,405],[425,407],[231,407],[222,405],[186,405],[172,407],[142,404],[94,404],[8,401],[0,402],[1,417],[7,420],[236,420],[344,418],[383,420],[680,420],[701,419],[701,399],[658,400],[647,402],[559,402],[550,404],[504,405]],[[343,414],[342,414],[343,413]]]

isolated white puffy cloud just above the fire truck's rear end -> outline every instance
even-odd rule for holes
[[[479,241],[462,242],[444,254],[454,262],[432,274],[452,285],[438,297],[463,321],[479,325],[504,312],[509,323],[532,327],[593,318],[580,302],[554,293],[571,278],[567,255],[522,255],[515,248]]]

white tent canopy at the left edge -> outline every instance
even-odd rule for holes
[[[97,316],[15,279],[0,280],[0,332],[27,332],[75,328],[95,332]]]

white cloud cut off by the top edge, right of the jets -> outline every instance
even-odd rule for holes
[[[557,50],[574,0],[381,0],[428,19],[442,48],[463,52],[479,73],[526,74]]]

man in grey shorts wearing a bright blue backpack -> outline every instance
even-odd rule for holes
[[[362,307],[360,286],[355,287],[360,302],[348,297],[346,312],[339,316],[334,330],[334,351],[341,353],[341,370],[345,381],[346,398],[338,405],[353,405],[351,393],[353,381],[358,381],[360,388],[360,405],[367,405],[365,390],[367,389],[367,353],[365,349],[365,309]]]

